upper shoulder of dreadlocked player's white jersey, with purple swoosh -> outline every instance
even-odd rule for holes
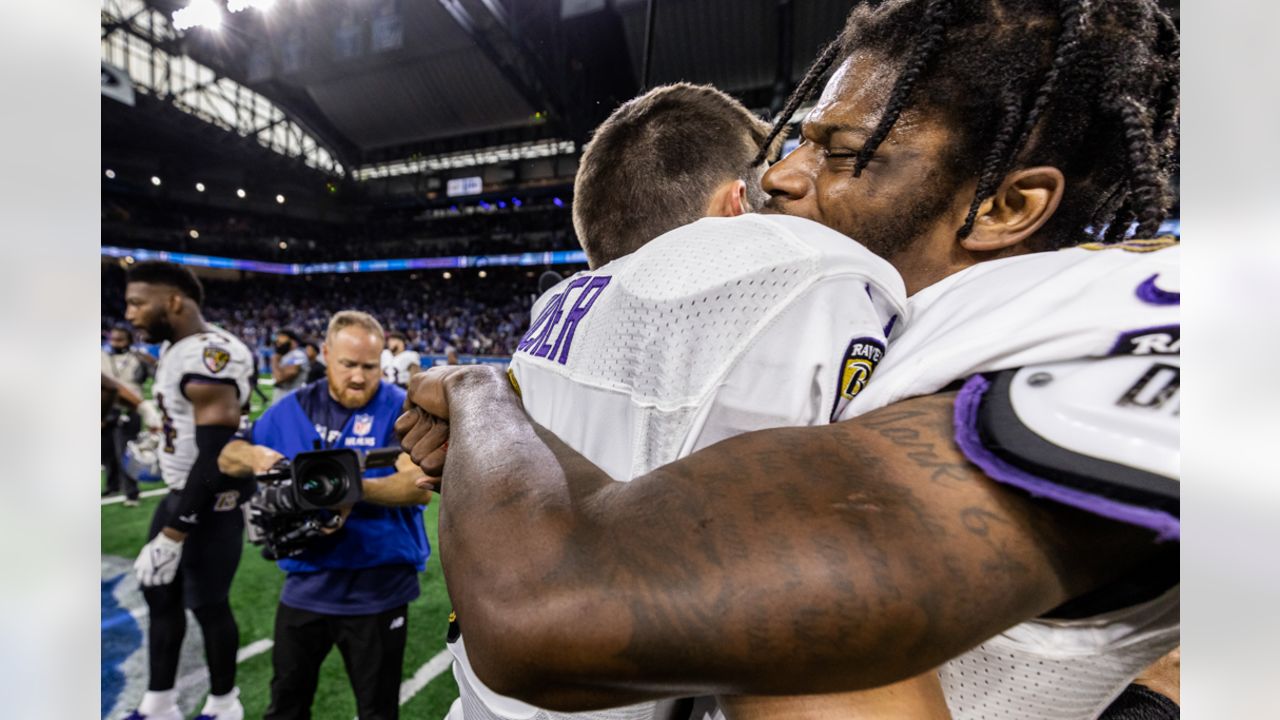
[[[974,373],[1176,355],[1180,259],[1176,243],[1137,240],[991,260],[943,278],[911,296],[893,355],[841,419]]]

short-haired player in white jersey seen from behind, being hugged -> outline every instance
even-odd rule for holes
[[[678,83],[620,106],[584,151],[573,223],[591,269],[535,302],[511,378],[535,420],[614,479],[742,432],[829,423],[869,379],[902,314],[897,273],[856,242],[808,220],[746,215],[764,200],[764,168],[751,159],[768,131],[723,92]],[[671,258],[680,272],[655,272]],[[470,667],[467,616],[458,624],[451,720],[690,714],[694,701],[566,715],[502,697]],[[759,698],[724,702],[736,717],[764,711]],[[870,708],[947,716],[932,675],[867,693],[771,698],[768,710],[855,717]]]

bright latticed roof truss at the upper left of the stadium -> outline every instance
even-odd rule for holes
[[[143,0],[102,0],[102,60],[129,74],[136,91],[310,168],[342,177],[328,147],[262,95],[180,51],[182,36]]]

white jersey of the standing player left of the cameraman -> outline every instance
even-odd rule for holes
[[[156,379],[151,387],[164,419],[164,451],[160,475],[166,486],[182,489],[196,461],[196,416],[186,387],[189,382],[227,383],[246,406],[253,382],[253,354],[227,331],[207,325],[207,331],[187,336],[160,348]]]

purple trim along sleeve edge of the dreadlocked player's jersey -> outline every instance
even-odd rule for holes
[[[982,375],[969,378],[960,388],[960,395],[956,396],[955,423],[956,445],[960,447],[960,452],[987,473],[991,479],[1021,488],[1032,497],[1044,497],[1085,512],[1155,530],[1158,534],[1158,541],[1181,539],[1181,523],[1167,512],[1057,484],[1015,468],[987,450],[978,436],[978,405],[988,387],[991,383]]]

